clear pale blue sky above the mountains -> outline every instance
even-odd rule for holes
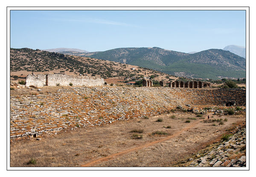
[[[245,46],[245,11],[11,11],[11,47],[174,51]]]

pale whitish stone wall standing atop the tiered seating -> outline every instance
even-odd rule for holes
[[[104,79],[99,77],[88,77],[88,76],[75,76],[66,74],[29,74],[26,77],[26,86],[68,86],[70,83],[73,86],[103,86]]]

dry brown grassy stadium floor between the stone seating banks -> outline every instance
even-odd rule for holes
[[[208,115],[210,119],[227,118],[227,122],[215,126],[204,123],[202,118],[207,119]],[[157,122],[159,118],[163,121]],[[244,114],[196,117],[195,114],[176,112],[149,119],[120,120],[111,125],[76,128],[61,131],[56,136],[42,137],[40,141],[12,141],[10,163],[11,166],[172,166],[214,142],[241,121],[245,121]],[[134,132],[131,131],[135,129],[140,130],[137,134],[142,138],[133,138]],[[166,134],[153,135],[155,131]],[[31,159],[36,163],[29,163]]]

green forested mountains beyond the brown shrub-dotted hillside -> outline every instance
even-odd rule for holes
[[[209,49],[195,54],[153,48],[119,48],[82,55],[194,78],[245,77],[245,59],[230,51]],[[181,73],[185,72],[185,73]]]

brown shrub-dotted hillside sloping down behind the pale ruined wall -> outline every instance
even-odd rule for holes
[[[157,80],[175,79],[175,77],[168,74],[139,66],[89,57],[64,55],[39,49],[11,49],[10,55],[11,75],[26,76],[32,72],[34,74],[61,72],[69,75],[95,75],[104,79],[115,78],[119,81],[123,81],[125,77],[150,77],[151,75],[158,75]]]

